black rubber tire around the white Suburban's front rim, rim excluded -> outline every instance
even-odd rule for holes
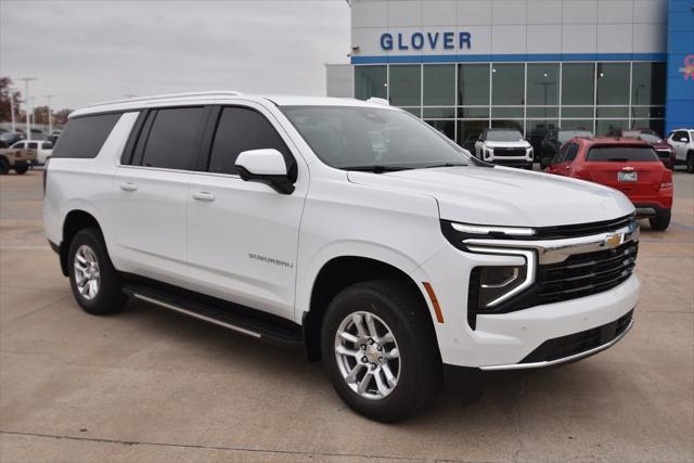
[[[321,330],[323,364],[339,397],[356,412],[380,422],[393,423],[423,409],[437,397],[442,385],[442,364],[429,311],[421,299],[416,288],[397,281],[380,280],[349,286],[331,301]],[[376,316],[385,322],[396,339],[399,351],[399,359],[395,360],[399,362],[397,385],[385,397],[370,399],[360,396],[340,372],[335,353],[336,334],[343,321],[355,312]],[[380,343],[381,339],[375,343],[376,347],[381,346]],[[393,345],[386,346],[387,342],[383,343],[383,351],[393,348]],[[354,348],[358,352],[358,349],[363,349],[357,344],[354,344]],[[362,371],[367,369],[371,372],[372,366],[376,368],[375,363],[364,364]],[[382,366],[377,368],[375,374],[383,373],[381,380],[387,378],[386,373],[381,371]],[[365,374],[360,377],[363,378]],[[357,382],[354,387],[357,387]],[[375,386],[375,377],[370,382]],[[377,390],[374,389],[374,393],[377,394]]]

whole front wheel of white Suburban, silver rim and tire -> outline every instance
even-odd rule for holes
[[[355,411],[396,422],[434,399],[441,359],[428,308],[395,281],[358,283],[327,308],[321,332],[333,387]]]

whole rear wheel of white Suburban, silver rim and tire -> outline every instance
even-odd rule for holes
[[[99,229],[77,232],[69,246],[69,283],[77,304],[89,313],[116,312],[126,301]]]

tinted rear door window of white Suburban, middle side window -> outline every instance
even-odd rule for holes
[[[192,170],[200,146],[203,107],[159,110],[144,145],[142,165]]]

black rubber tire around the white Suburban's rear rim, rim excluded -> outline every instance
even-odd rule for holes
[[[80,249],[90,249],[97,261],[99,273],[98,290],[93,297],[82,294],[78,287],[77,269],[75,261]],[[126,301],[126,296],[120,287],[120,278],[114,269],[101,231],[97,228],[88,228],[77,232],[67,255],[67,271],[69,274],[69,285],[77,304],[88,313],[103,316],[118,311]]]

